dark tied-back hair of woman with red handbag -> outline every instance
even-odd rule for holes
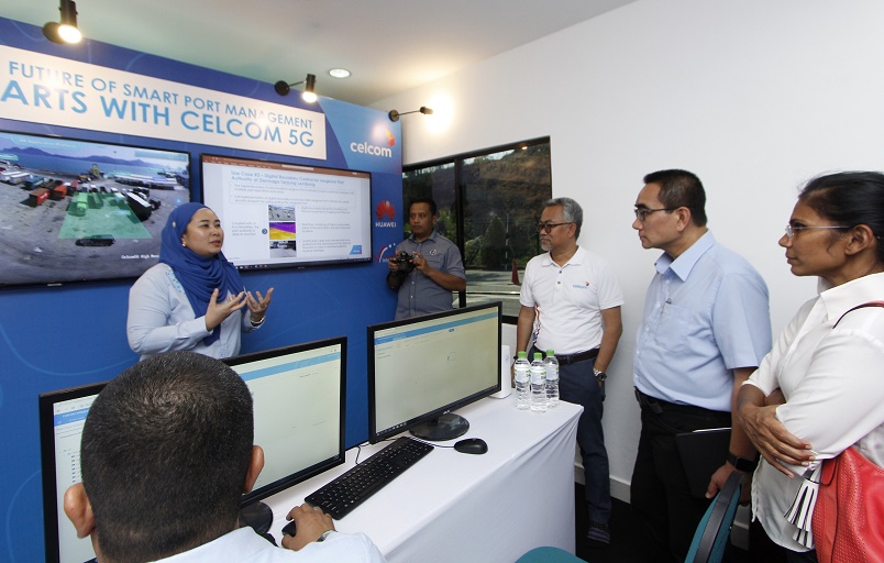
[[[814,178],[798,195],[820,217],[844,227],[865,224],[881,241],[884,235],[884,174],[841,172]],[[877,245],[884,262],[884,245]]]

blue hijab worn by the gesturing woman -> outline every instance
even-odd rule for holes
[[[209,309],[209,299],[214,288],[219,289],[219,298],[224,299],[228,291],[239,295],[243,290],[243,280],[236,267],[228,262],[223,253],[206,258],[181,245],[181,236],[187,231],[190,219],[200,209],[209,209],[202,203],[185,203],[175,208],[163,228],[159,245],[159,262],[168,264],[175,277],[184,287],[187,300],[194,309],[194,316],[200,318]],[[220,330],[202,339],[207,345],[217,341]]]

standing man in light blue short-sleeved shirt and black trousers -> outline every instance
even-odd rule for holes
[[[771,350],[771,321],[764,280],[706,227],[699,178],[660,170],[644,184],[632,228],[643,247],[663,254],[636,339],[641,434],[630,503],[644,528],[645,561],[673,562],[685,560],[709,499],[731,472],[755,467],[755,450],[731,412],[740,385]],[[727,427],[727,460],[710,476],[707,498],[696,498],[675,435]]]

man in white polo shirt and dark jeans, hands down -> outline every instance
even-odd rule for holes
[[[516,338],[529,357],[555,351],[562,400],[584,408],[577,444],[589,517],[586,539],[590,545],[607,545],[611,499],[601,415],[605,371],[623,332],[623,292],[608,262],[577,245],[582,223],[583,210],[573,199],[544,203],[538,231],[548,252],[524,268]]]

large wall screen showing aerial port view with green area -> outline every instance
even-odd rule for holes
[[[140,276],[189,188],[188,153],[0,131],[0,286]]]

